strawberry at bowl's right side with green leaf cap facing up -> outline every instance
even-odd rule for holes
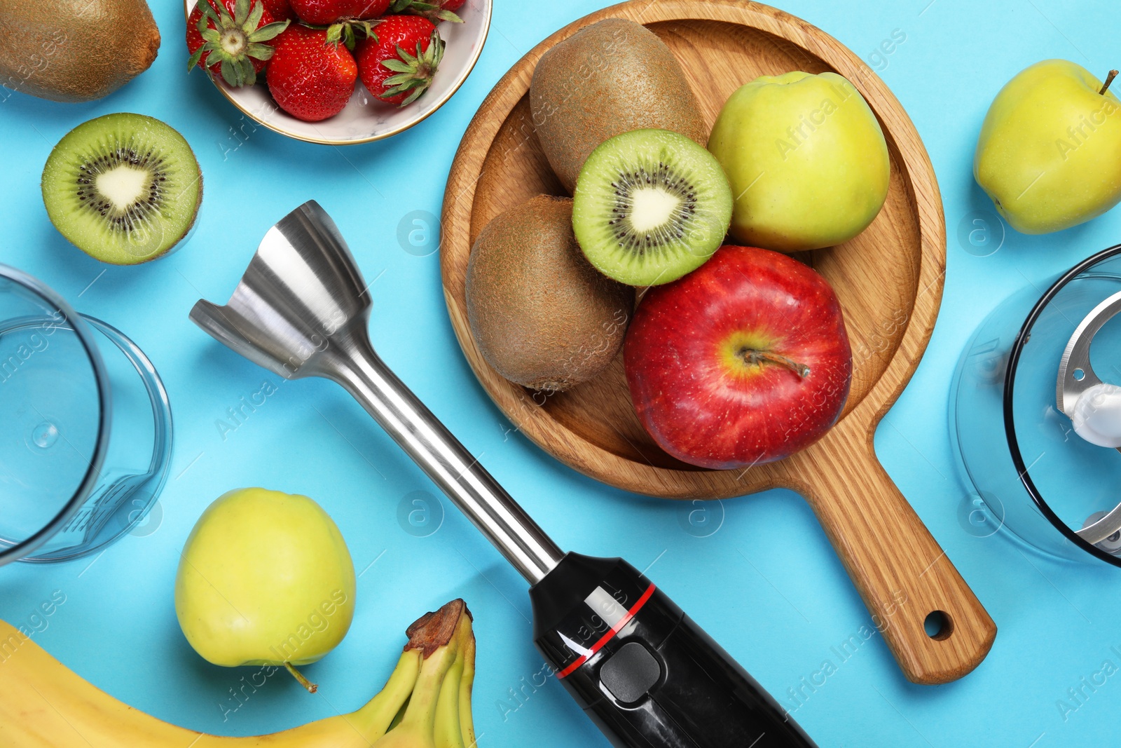
[[[377,99],[401,107],[428,90],[444,56],[436,26],[420,16],[387,16],[355,56],[362,83]]]

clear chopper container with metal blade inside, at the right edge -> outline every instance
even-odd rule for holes
[[[1025,288],[958,361],[949,431],[963,523],[1121,566],[1121,244]]]

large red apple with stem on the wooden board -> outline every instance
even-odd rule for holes
[[[852,351],[836,294],[786,255],[725,246],[655,286],[623,345],[642,426],[669,454],[726,470],[813,444],[849,396]]]

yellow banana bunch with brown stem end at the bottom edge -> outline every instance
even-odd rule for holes
[[[413,624],[381,692],[364,707],[249,738],[186,730],[121,703],[0,621],[4,748],[474,748],[471,612],[453,600]]]

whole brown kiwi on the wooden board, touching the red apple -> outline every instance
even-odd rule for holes
[[[467,321],[487,362],[559,391],[619,352],[634,290],[600,275],[572,231],[572,200],[538,195],[488,223],[467,262]]]

